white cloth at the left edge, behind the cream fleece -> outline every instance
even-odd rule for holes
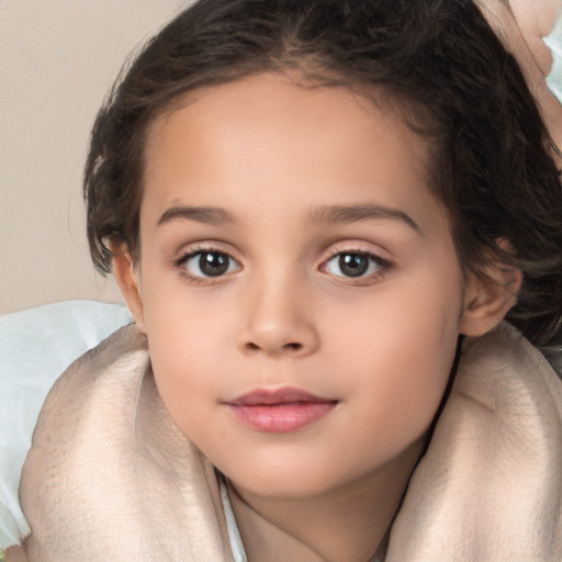
[[[77,357],[131,322],[123,305],[97,301],[0,316],[0,549],[30,532],[18,488],[45,396]]]

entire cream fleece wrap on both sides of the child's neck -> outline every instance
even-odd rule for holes
[[[22,475],[30,562],[232,560],[213,467],[148,364],[130,326],[50,392]],[[561,420],[561,382],[513,328],[467,340],[386,561],[562,561]]]

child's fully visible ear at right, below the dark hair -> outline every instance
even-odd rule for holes
[[[495,328],[517,302],[522,276],[518,269],[491,265],[469,280],[459,331],[482,336]]]

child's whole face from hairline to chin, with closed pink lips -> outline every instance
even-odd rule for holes
[[[154,123],[128,302],[167,409],[240,490],[419,454],[471,306],[427,162],[391,112],[273,75]]]

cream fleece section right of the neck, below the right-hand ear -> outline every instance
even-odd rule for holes
[[[467,339],[390,552],[561,560],[561,457],[562,383],[541,353],[507,324]]]

